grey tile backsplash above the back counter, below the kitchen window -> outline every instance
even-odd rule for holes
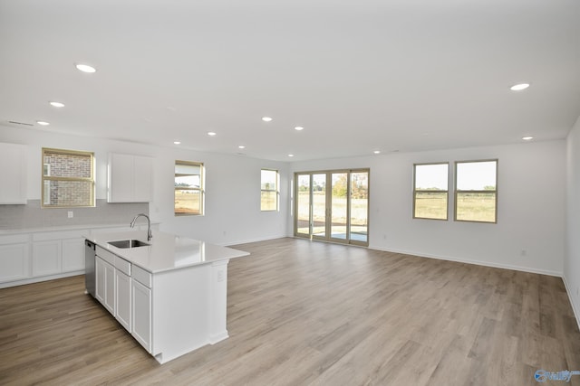
[[[73,212],[72,218],[69,218],[69,212]],[[28,200],[25,205],[0,205],[0,230],[122,223],[129,226],[138,213],[149,213],[149,203],[108,203],[107,200],[97,200],[94,208],[43,209],[40,200]]]

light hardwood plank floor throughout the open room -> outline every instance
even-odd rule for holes
[[[1,289],[0,384],[517,386],[580,370],[560,278],[308,240],[237,248],[251,256],[229,263],[230,337],[164,365],[83,277]]]

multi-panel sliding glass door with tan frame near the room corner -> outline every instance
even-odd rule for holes
[[[369,170],[295,174],[295,235],[368,246]]]

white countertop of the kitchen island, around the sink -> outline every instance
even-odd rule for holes
[[[243,250],[222,247],[161,231],[153,231],[153,238],[150,241],[147,240],[147,231],[99,233],[87,235],[85,238],[151,273],[249,255]],[[150,245],[123,249],[108,243],[108,241],[116,240],[140,240]]]

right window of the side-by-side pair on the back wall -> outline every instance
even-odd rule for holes
[[[498,160],[455,163],[455,220],[497,222]]]

